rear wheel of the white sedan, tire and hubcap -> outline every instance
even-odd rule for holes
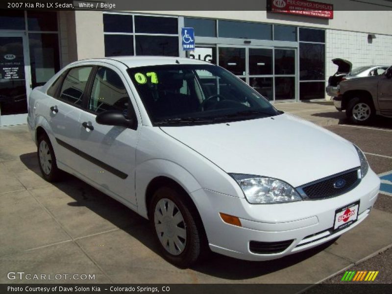
[[[60,179],[61,171],[57,168],[56,156],[49,137],[42,134],[38,138],[38,164],[43,178],[48,182],[55,182]]]

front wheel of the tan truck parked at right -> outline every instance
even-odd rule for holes
[[[352,123],[365,124],[372,120],[375,109],[370,99],[355,97],[348,101],[346,116]]]

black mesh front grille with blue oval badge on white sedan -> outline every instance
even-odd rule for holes
[[[336,188],[334,184],[342,179],[345,181],[344,187]],[[319,199],[344,194],[354,189],[358,184],[358,170],[354,170],[302,187],[302,190],[309,198]]]

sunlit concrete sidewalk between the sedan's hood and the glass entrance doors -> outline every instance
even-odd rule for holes
[[[274,106],[321,126],[339,124],[346,119],[344,112],[336,110],[333,101],[275,103]]]

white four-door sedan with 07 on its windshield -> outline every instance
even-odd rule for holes
[[[72,173],[147,218],[179,267],[315,247],[364,221],[380,187],[358,147],[193,59],[74,62],[32,91],[27,121],[46,180]]]

